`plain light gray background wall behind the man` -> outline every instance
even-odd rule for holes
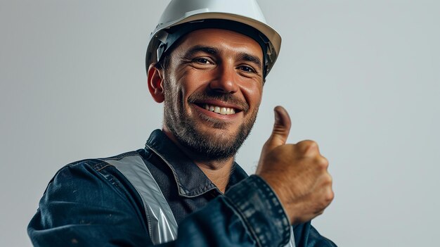
[[[168,1],[0,1],[0,246],[63,165],[143,148],[162,124],[144,56]],[[259,0],[283,37],[237,160],[254,172],[287,108],[335,200],[313,224],[339,246],[434,246],[439,229],[440,2]]]

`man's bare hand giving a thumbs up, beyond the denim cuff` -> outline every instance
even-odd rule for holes
[[[328,160],[321,156],[314,141],[285,144],[290,117],[281,106],[274,110],[275,124],[261,151],[256,174],[275,191],[290,224],[307,222],[321,215],[333,200]]]

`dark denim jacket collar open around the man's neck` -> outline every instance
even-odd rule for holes
[[[218,191],[198,165],[195,165],[162,130],[155,129],[150,134],[145,149],[150,149],[169,165],[179,187],[179,195],[195,197],[212,189]],[[246,172],[234,162],[226,190],[246,177]]]

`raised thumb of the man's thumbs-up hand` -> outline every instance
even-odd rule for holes
[[[283,106],[276,106],[273,111],[275,112],[275,123],[273,124],[271,137],[266,141],[268,150],[285,144],[292,125],[289,113]]]

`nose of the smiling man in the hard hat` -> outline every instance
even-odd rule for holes
[[[238,91],[237,73],[231,65],[219,65],[216,76],[209,83],[209,87],[223,94],[233,94]]]

